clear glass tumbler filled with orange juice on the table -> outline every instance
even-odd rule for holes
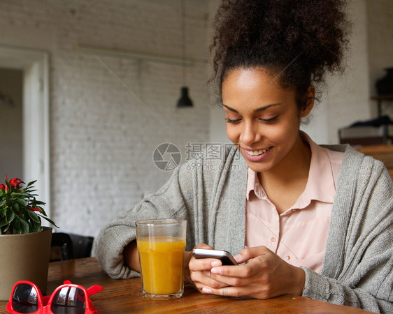
[[[135,224],[143,297],[159,300],[182,297],[187,221],[149,219]]]

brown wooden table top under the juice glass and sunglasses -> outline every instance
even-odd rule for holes
[[[66,279],[86,288],[93,284],[103,287],[103,291],[91,297],[98,313],[368,313],[292,295],[268,300],[206,295],[200,294],[191,285],[185,285],[181,299],[152,301],[142,297],[140,278],[110,279],[94,257],[51,262],[48,293]],[[7,313],[5,301],[0,301],[0,313]]]

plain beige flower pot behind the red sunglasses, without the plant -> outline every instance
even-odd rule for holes
[[[0,301],[8,301],[17,281],[35,283],[43,294],[48,282],[52,228],[0,235]]]

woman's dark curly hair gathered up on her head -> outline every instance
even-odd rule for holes
[[[350,23],[345,0],[223,0],[215,17],[214,74],[222,81],[234,68],[264,68],[306,103],[310,84],[326,70],[343,71]]]

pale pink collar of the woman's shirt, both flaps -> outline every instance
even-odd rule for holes
[[[311,200],[333,203],[336,184],[334,182],[331,160],[325,149],[315,144],[306,133],[301,131],[301,137],[310,145],[311,163],[306,188],[293,207],[304,208],[310,204]],[[264,188],[259,183],[257,172],[248,168],[246,190],[248,201],[250,200],[251,191],[254,191],[259,199],[267,197]]]

